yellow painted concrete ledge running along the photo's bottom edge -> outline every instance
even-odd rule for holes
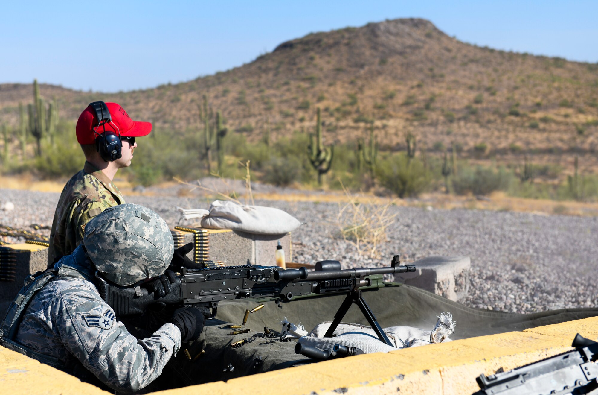
[[[522,332],[480,336],[324,361],[228,382],[212,382],[154,394],[471,394],[475,378],[512,369],[571,350],[576,333],[598,338],[598,317]],[[10,358],[8,358],[10,357]],[[25,372],[22,372],[24,370]],[[201,372],[198,372],[201,374]],[[100,394],[66,373],[0,347],[0,381],[4,393]],[[39,383],[39,387],[35,387]]]

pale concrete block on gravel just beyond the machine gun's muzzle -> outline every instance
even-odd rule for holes
[[[416,271],[395,274],[395,281],[462,302],[469,289],[469,257],[432,256],[413,262]]]

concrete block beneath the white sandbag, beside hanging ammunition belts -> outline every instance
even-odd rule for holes
[[[184,232],[184,243],[193,242],[193,233]],[[229,266],[276,266],[274,253],[278,241],[285,250],[286,262],[291,262],[291,233],[283,235],[256,235],[230,229],[208,229],[209,259],[221,260]],[[193,260],[193,251],[188,254]]]

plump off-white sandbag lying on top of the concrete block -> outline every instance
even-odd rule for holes
[[[222,200],[212,202],[209,214],[202,218],[202,227],[206,229],[233,229],[258,235],[282,235],[300,225],[297,218],[281,209]]]

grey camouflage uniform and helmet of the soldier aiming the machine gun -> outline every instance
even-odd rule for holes
[[[119,391],[145,387],[178,352],[181,332],[166,323],[145,339],[130,334],[100,297],[94,273],[105,272],[119,285],[133,284],[163,274],[173,251],[166,221],[155,212],[130,203],[106,209],[87,224],[83,244],[62,257],[54,266],[56,275],[33,294],[14,341],[56,358],[69,372],[76,374],[82,365],[79,372],[91,372]]]

